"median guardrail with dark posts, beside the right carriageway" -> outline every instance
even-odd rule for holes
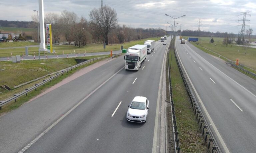
[[[176,58],[179,70],[180,70],[180,74],[182,76],[184,85],[185,85],[187,93],[188,93],[191,108],[193,109],[194,114],[196,115],[196,119],[198,119],[198,124],[200,124],[200,129],[202,130],[202,135],[203,136],[205,135],[205,141],[206,142],[208,141],[208,149],[210,149],[210,147],[211,147],[212,153],[214,153],[214,152],[221,153],[221,150],[219,149],[219,147],[217,145],[217,142],[211,132],[211,129],[208,126],[207,120],[205,119],[205,117],[201,111],[201,108],[194,96],[194,93],[191,90],[190,84],[188,83],[187,78],[183,73],[183,69],[180,66],[180,61],[178,60],[178,58],[176,56],[176,51],[174,52],[174,54],[175,54],[175,58]]]

